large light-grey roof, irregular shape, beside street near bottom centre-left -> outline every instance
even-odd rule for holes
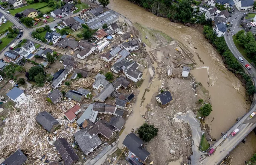
[[[74,133],[75,141],[81,148],[84,154],[90,152],[91,148],[97,147],[102,144],[101,139],[97,135],[90,135],[87,129],[81,129]]]

